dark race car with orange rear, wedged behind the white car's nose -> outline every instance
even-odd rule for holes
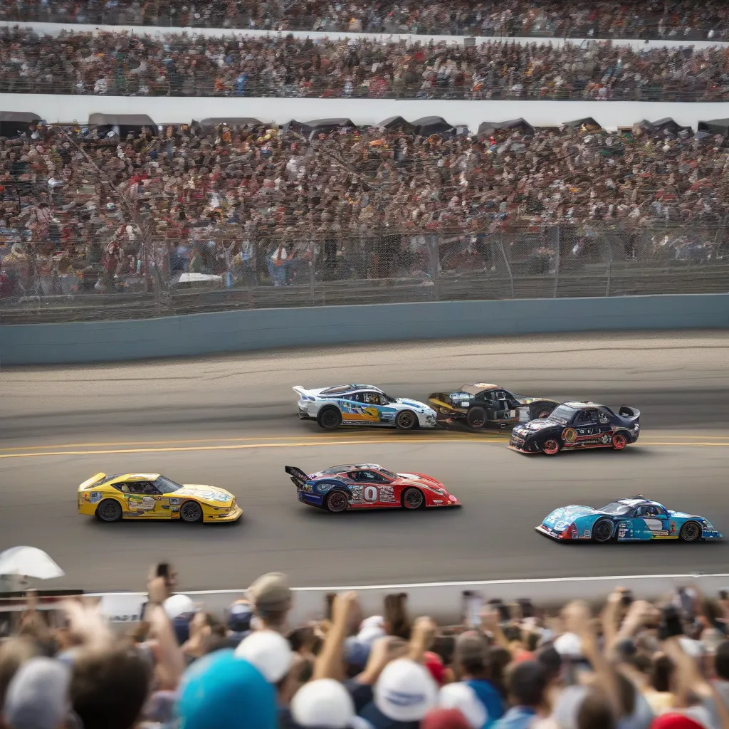
[[[461,421],[480,429],[487,425],[506,428],[534,418],[546,418],[559,402],[516,395],[498,385],[482,382],[464,385],[451,394],[434,392],[428,397],[428,405],[437,413],[436,420],[441,425]]]

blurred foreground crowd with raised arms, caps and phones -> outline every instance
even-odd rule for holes
[[[364,617],[356,593],[292,618],[282,574],[214,615],[150,572],[120,635],[93,604],[31,599],[0,643],[3,729],[727,729],[729,605],[615,590],[556,612],[491,600],[461,625]],[[58,615],[56,612],[53,615]]]

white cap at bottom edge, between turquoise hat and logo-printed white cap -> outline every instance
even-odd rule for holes
[[[348,690],[335,679],[303,685],[291,701],[291,715],[298,726],[316,729],[355,729],[364,721],[356,716]]]

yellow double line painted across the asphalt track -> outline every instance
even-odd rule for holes
[[[200,441],[198,441],[199,443]],[[0,453],[0,459],[12,458],[36,458],[40,456],[103,456],[118,453],[177,453],[189,451],[241,451],[247,448],[314,448],[316,446],[328,445],[371,445],[373,443],[383,443],[386,445],[396,445],[403,443],[508,443],[507,438],[483,438],[483,437],[399,437],[399,438],[372,438],[366,440],[357,440],[352,437],[335,438],[335,440],[297,440],[286,441],[284,443],[235,443],[233,445],[188,445],[174,446],[168,448],[109,448],[99,451],[39,451],[36,453]],[[643,441],[638,446],[632,448],[640,448],[641,445],[658,446],[658,447],[682,447],[682,448],[729,448],[729,443],[678,443],[678,442],[662,442],[662,441]]]

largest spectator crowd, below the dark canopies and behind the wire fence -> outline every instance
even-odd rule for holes
[[[144,287],[150,265],[284,284],[308,276],[312,256],[338,278],[387,278],[418,265],[424,235],[477,249],[512,228],[715,232],[729,214],[725,137],[676,125],[480,136],[418,135],[407,122],[308,135],[181,125],[122,136],[38,124],[0,139],[4,296],[28,281],[36,295]]]

